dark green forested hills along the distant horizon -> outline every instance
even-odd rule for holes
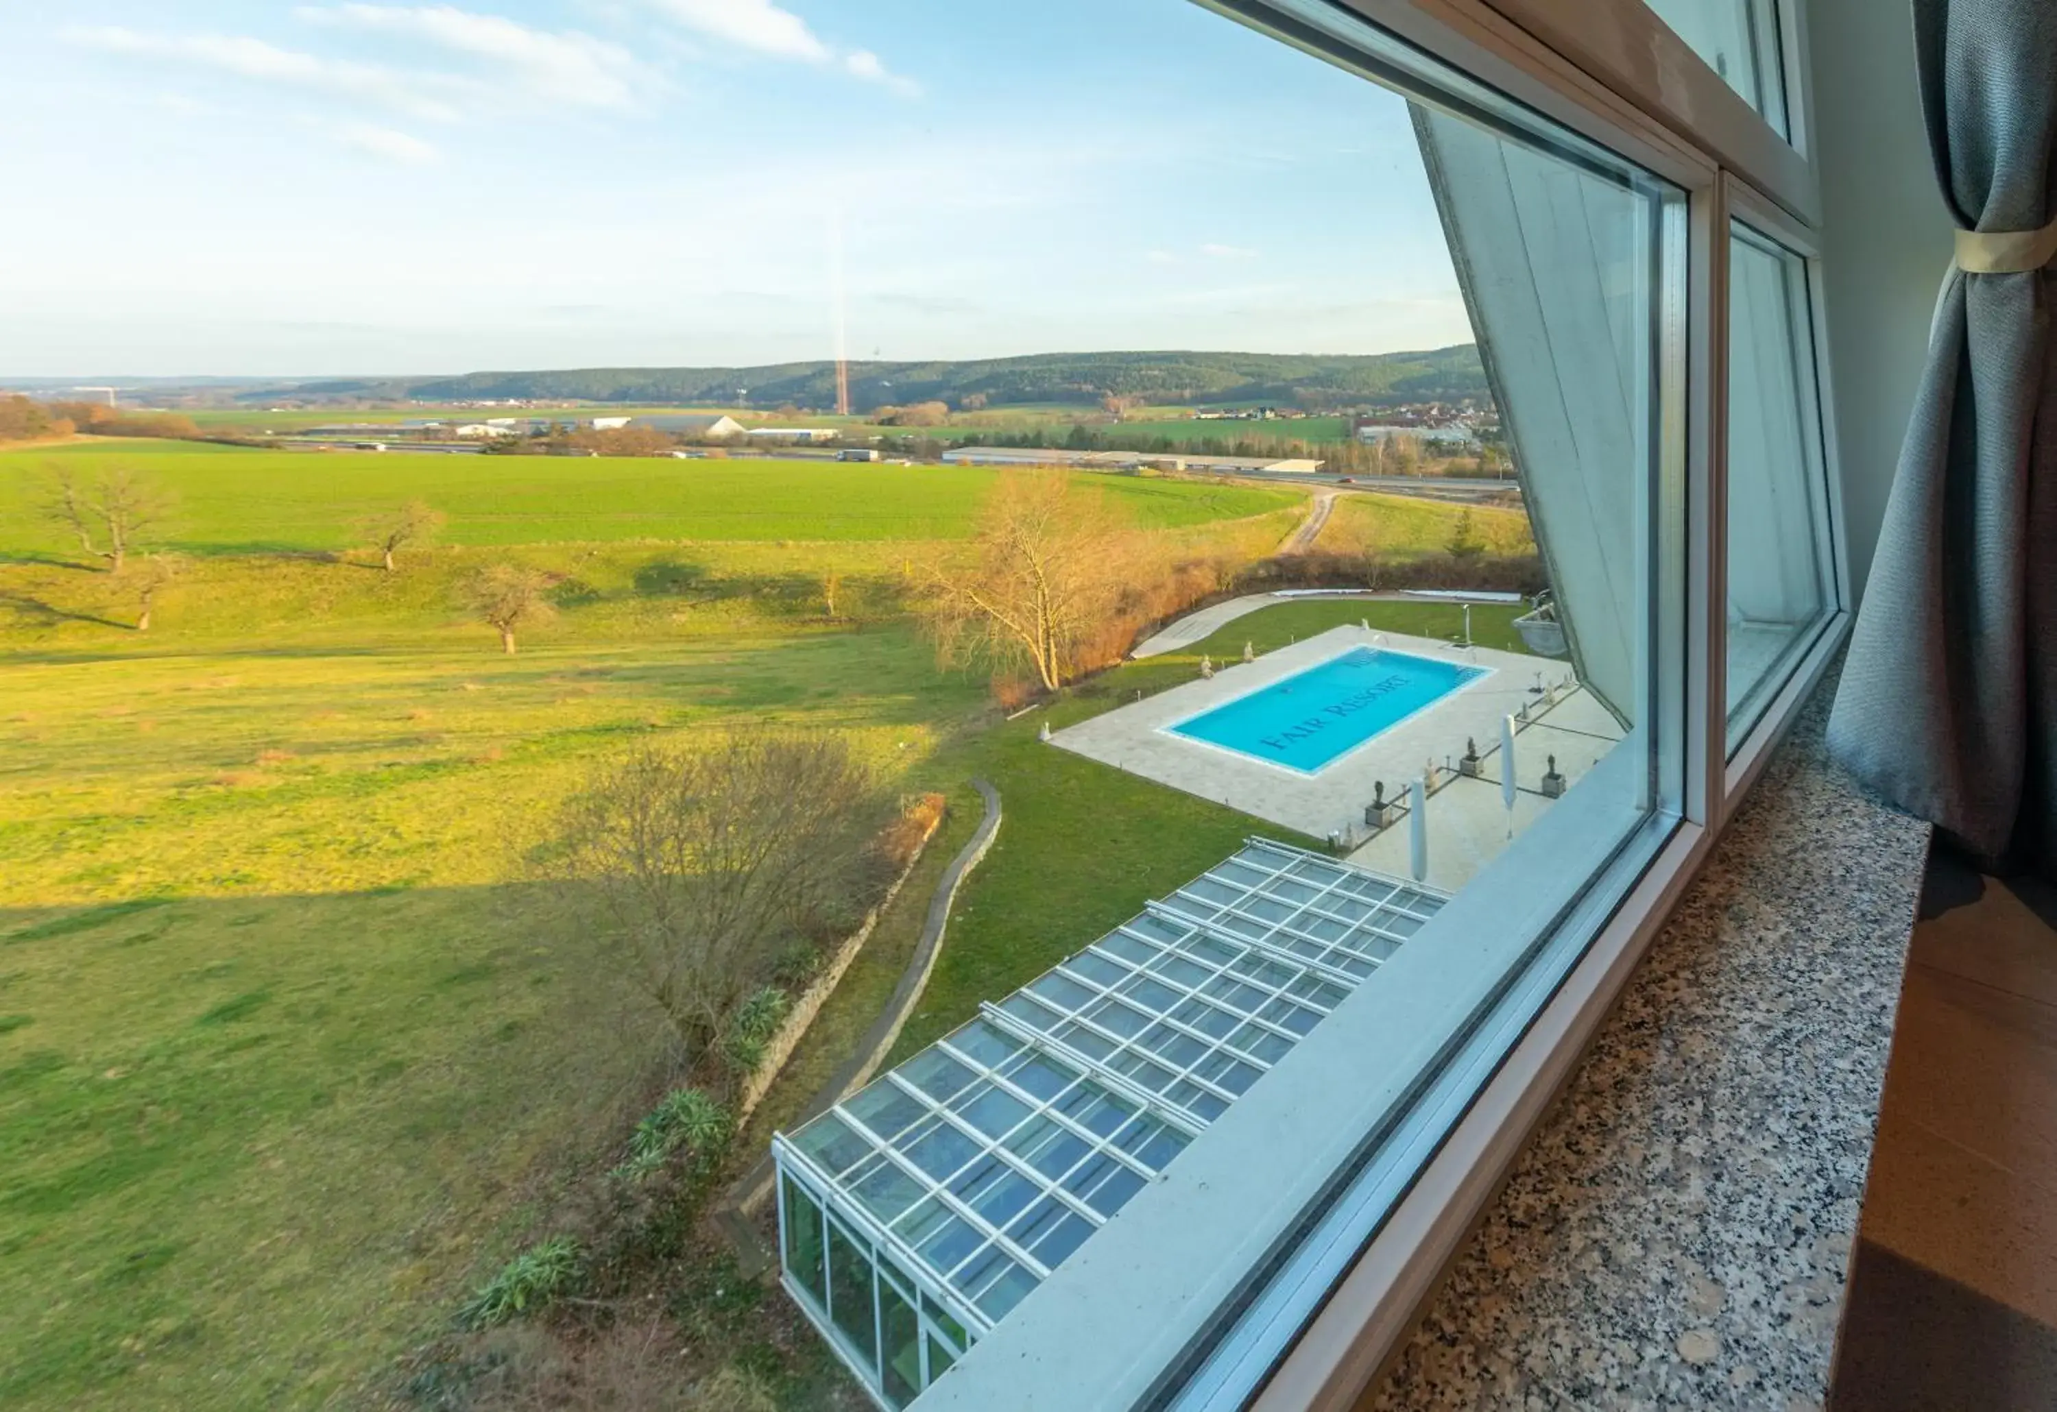
[[[424,403],[483,399],[734,407],[833,407],[835,364],[767,368],[586,368],[576,372],[471,372],[457,378],[337,378],[304,382],[313,397]],[[247,397],[276,397],[274,391]],[[1133,397],[1156,405],[1273,403],[1279,407],[1397,407],[1487,401],[1473,343],[1421,354],[1323,358],[1298,354],[1037,354],[981,362],[854,362],[856,411],[940,401],[950,407],[1096,403]]]

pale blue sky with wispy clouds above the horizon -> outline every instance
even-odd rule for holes
[[[39,12],[31,12],[39,10]],[[0,6],[0,376],[1467,341],[1405,105],[1191,0]]]

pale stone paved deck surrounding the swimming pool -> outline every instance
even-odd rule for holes
[[[1247,754],[1164,730],[1226,701],[1321,666],[1351,647],[1386,647],[1458,666],[1483,666],[1489,668],[1489,674],[1450,693],[1388,732],[1374,736],[1314,775],[1267,765]],[[1446,641],[1409,637],[1405,633],[1333,627],[1306,641],[1269,652],[1257,662],[1228,664],[1212,680],[1195,678],[1156,697],[1117,707],[1090,721],[1080,721],[1057,732],[1051,744],[1100,760],[1103,765],[1125,769],[1131,775],[1154,779],[1160,785],[1170,785],[1203,800],[1216,800],[1314,839],[1325,839],[1331,832],[1362,839],[1366,834],[1364,806],[1372,802],[1374,781],[1384,781],[1388,800],[1399,797],[1407,781],[1421,775],[1430,760],[1438,767],[1454,767],[1458,756],[1465,754],[1467,736],[1477,740],[1481,756],[1495,752],[1502,717],[1539,701],[1532,691],[1537,672],[1551,684],[1572,678],[1569,664],[1549,658],[1493,652],[1489,647],[1452,647]],[[1574,777],[1567,767],[1590,767],[1621,734],[1613,717],[1584,691],[1561,697],[1561,703],[1543,721],[1547,726],[1539,723],[1522,732],[1516,746],[1516,783],[1528,785],[1530,777],[1541,779],[1543,754],[1551,746],[1537,732],[1547,732],[1551,738],[1561,736],[1565,758],[1559,760],[1559,769],[1567,777]],[[1578,769],[1578,773],[1584,773],[1584,769]],[[1465,795],[1452,793],[1458,783],[1469,787]],[[1483,795],[1489,793],[1491,820],[1469,820],[1469,814],[1479,812],[1469,802],[1469,793],[1479,793],[1481,804]],[[1438,810],[1436,806],[1446,797],[1452,808]],[[1522,826],[1541,812],[1537,808],[1541,806],[1541,795],[1535,795],[1535,800],[1524,795],[1524,802],[1530,808],[1516,810]],[[1497,826],[1504,839],[1506,814],[1500,806],[1497,785],[1487,789],[1477,781],[1448,783],[1430,800],[1432,824],[1442,822],[1444,816],[1448,816],[1448,824],[1465,822],[1458,818],[1458,808],[1463,808],[1469,820],[1465,824],[1467,832],[1479,832],[1479,828],[1491,832],[1491,826]],[[1438,857],[1434,832],[1442,830],[1432,830],[1432,861]],[[1384,871],[1405,876],[1405,826],[1386,830],[1384,839],[1393,839],[1395,834],[1403,851],[1401,867],[1386,865]],[[1481,839],[1479,845],[1483,847],[1483,843]],[[1458,861],[1454,849],[1444,849],[1442,857],[1452,865]],[[1436,876],[1438,871],[1444,869],[1434,869],[1430,882],[1450,886]]]

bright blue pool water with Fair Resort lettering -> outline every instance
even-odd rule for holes
[[[1485,672],[1407,652],[1351,647],[1168,730],[1312,775]]]

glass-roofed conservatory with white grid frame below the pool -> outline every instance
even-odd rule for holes
[[[788,1293],[905,1406],[1444,902],[1249,841],[775,1137]]]

